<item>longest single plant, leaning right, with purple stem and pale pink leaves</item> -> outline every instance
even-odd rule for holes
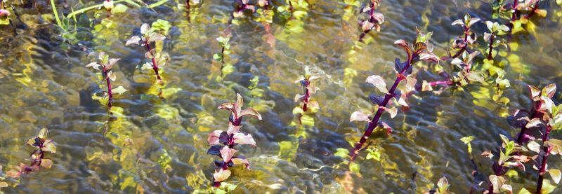
[[[369,136],[375,129],[386,130],[389,134],[392,132],[392,128],[390,125],[379,121],[382,113],[385,111],[390,113],[391,118],[396,116],[398,109],[396,107],[388,108],[388,102],[392,98],[396,98],[398,100],[397,104],[403,106],[403,109],[407,109],[407,102],[405,102],[405,94],[407,92],[412,92],[415,90],[415,85],[417,79],[412,76],[412,65],[416,64],[417,62],[421,61],[428,61],[428,62],[438,62],[438,57],[433,54],[431,50],[431,45],[429,43],[429,39],[431,39],[431,35],[433,33],[429,32],[427,34],[419,32],[417,30],[416,39],[413,41],[413,46],[410,47],[405,40],[398,40],[395,41],[394,44],[403,48],[407,54],[407,60],[405,62],[400,62],[400,59],[396,58],[394,70],[396,71],[396,81],[394,81],[393,85],[390,89],[386,87],[386,83],[384,78],[377,75],[372,75],[367,77],[366,83],[370,83],[375,86],[379,90],[379,92],[384,93],[384,97],[378,95],[370,95],[371,102],[378,106],[377,112],[374,113],[374,116],[369,116],[366,113],[362,113],[361,111],[355,111],[351,114],[350,121],[358,120],[358,121],[366,121],[369,124],[365,129],[360,141],[353,146],[353,149],[349,152],[349,156],[351,161],[355,160],[360,150],[362,150],[363,144],[367,141]],[[406,90],[404,92],[400,92],[397,90],[398,84],[402,81],[406,81]]]

